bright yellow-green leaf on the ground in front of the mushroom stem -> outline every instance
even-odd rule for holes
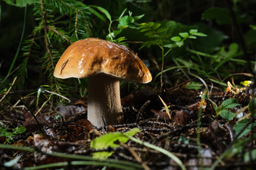
[[[109,132],[106,135],[102,135],[100,137],[95,138],[90,142],[90,147],[93,149],[107,149],[107,147],[119,147],[119,143],[126,143],[129,140],[129,137],[132,137],[140,132],[139,128],[133,128],[127,132]],[[127,137],[127,135],[129,137]],[[93,158],[99,159],[107,159],[110,157],[114,152],[95,152],[93,153]]]

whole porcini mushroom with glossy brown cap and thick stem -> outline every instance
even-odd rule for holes
[[[54,77],[88,77],[87,119],[92,125],[122,123],[119,80],[148,83],[149,69],[124,45],[87,38],[68,47],[55,66]]]

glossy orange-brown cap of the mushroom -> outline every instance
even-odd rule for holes
[[[86,38],[70,45],[58,60],[53,75],[68,79],[102,73],[139,83],[152,80],[149,69],[129,47],[98,38]]]

